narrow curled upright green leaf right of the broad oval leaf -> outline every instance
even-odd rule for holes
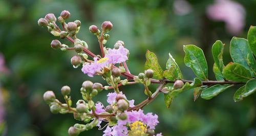
[[[223,71],[224,68],[222,59],[223,50],[224,44],[220,40],[217,40],[211,48],[211,53],[212,56],[214,56],[214,61],[221,72]]]

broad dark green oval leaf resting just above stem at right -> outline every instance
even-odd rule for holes
[[[246,82],[250,80],[250,71],[245,69],[245,67],[239,63],[230,62],[226,65],[223,70],[223,75],[227,80]]]

